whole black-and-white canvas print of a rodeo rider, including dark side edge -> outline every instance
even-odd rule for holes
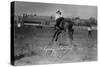
[[[97,6],[11,2],[11,63],[97,61],[97,25]]]

